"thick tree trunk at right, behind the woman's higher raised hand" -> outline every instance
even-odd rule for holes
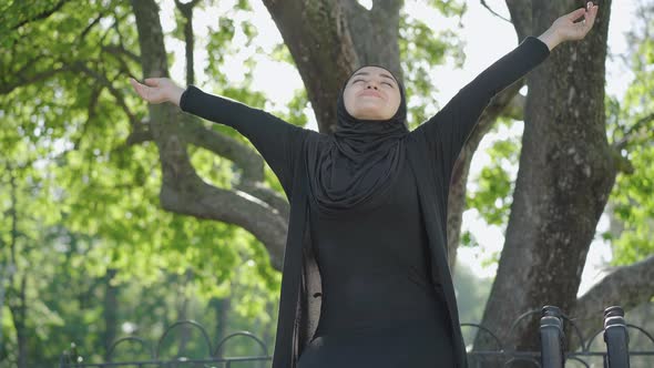
[[[530,3],[508,1],[512,13],[524,12]],[[534,1],[533,34],[578,7],[576,1]],[[586,254],[614,183],[604,115],[610,11],[611,1],[604,1],[583,41],[559,45],[528,75],[520,168],[505,244],[482,320],[505,347],[537,348],[533,319],[508,335],[522,313],[543,305],[570,313],[575,306]],[[476,348],[489,344],[480,337]]]

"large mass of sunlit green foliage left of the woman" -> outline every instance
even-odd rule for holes
[[[10,6],[3,14],[13,13],[17,23],[31,17],[21,18],[27,8],[19,2]],[[31,365],[57,361],[69,341],[88,359],[102,356],[110,268],[120,270],[110,280],[120,290],[117,321],[149,326],[145,337],[153,341],[178,318],[184,299],[195,306],[187,316],[207,326],[213,323],[204,306],[215,298],[232,298],[236,306],[229,328],[274,326],[269,305],[280,279],[262,245],[233,225],[162,211],[156,146],[125,144],[131,124],[147,115],[126,83],[140,68],[132,58],[139,45],[131,18],[120,1],[67,2],[2,38],[11,50],[3,45],[0,53],[0,260],[2,270],[17,266],[13,283],[2,278],[2,286],[7,303],[17,305],[17,277],[28,277]],[[264,96],[248,83],[224,92],[263,108]],[[190,154],[205,178],[228,186],[225,160],[196,147]],[[16,246],[9,247],[12,238]],[[17,360],[17,340],[12,314],[2,311],[4,365]]]

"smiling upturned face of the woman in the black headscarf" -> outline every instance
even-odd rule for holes
[[[343,99],[347,112],[361,120],[388,120],[401,102],[397,80],[379,67],[359,69],[347,82]]]

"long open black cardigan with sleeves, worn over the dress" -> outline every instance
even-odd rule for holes
[[[527,37],[407,137],[407,154],[418,183],[429,239],[431,276],[435,287],[442,288],[447,301],[457,367],[468,365],[447,255],[447,204],[452,167],[490,100],[543,62],[549,54],[545,43]],[[327,136],[289,124],[262,110],[204,93],[193,85],[182,94],[180,106],[185,112],[229,125],[245,135],[275,172],[289,198],[290,219],[273,368],[295,368],[317,327],[321,303],[320,273],[313,247],[308,245],[306,147],[327,140]]]

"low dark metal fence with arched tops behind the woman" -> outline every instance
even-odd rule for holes
[[[549,308],[549,309],[548,309]],[[554,309],[552,309],[554,308]],[[612,307],[616,308],[616,307]],[[617,307],[619,308],[619,307]],[[537,314],[541,314],[540,340],[541,349],[539,351],[523,351],[508,348],[507,345],[490,329],[479,324],[461,324],[463,329],[476,329],[477,334],[488,334],[490,339],[494,341],[494,347],[488,350],[472,350],[468,352],[468,360],[470,368],[487,368],[487,367],[521,367],[521,368],[550,368],[550,367],[585,367],[585,368],[629,368],[630,359],[636,360],[631,368],[654,367],[654,337],[644,328],[626,324],[624,321],[624,314],[620,315],[622,309],[607,308],[604,315],[604,328],[592,334],[590,337],[584,337],[581,328],[573,319],[568,318],[555,307],[543,307],[543,309],[530,310],[519,316],[510,328],[509,336],[515,330],[519,324],[524,323],[529,318],[534,318]],[[558,318],[558,319],[556,319]],[[565,328],[563,325],[565,324]],[[162,356],[163,341],[172,334],[173,330],[183,326],[195,328],[202,336],[202,343],[206,345],[208,356],[203,358],[192,357],[174,357],[164,358]],[[188,328],[186,327],[186,328]],[[579,348],[574,351],[565,350],[566,338],[564,330],[570,330],[570,338],[578,340]],[[613,335],[611,335],[613,334]],[[603,337],[604,341],[600,338]],[[647,350],[630,350],[629,341],[638,337],[640,340],[646,341],[650,348]],[[222,352],[224,348],[234,339],[245,338],[254,344],[259,355],[251,356],[224,356]],[[472,341],[467,341],[468,344]],[[146,356],[145,359],[134,360],[114,360],[115,354],[125,345],[139,346],[141,355]],[[602,348],[597,348],[597,346]],[[613,361],[610,361],[613,355]],[[74,345],[71,349],[64,351],[59,361],[60,368],[91,368],[91,367],[166,367],[166,368],[187,368],[187,367],[215,367],[215,368],[265,368],[269,366],[272,360],[272,351],[268,346],[258,337],[249,331],[237,331],[231,334],[215,346],[212,345],[211,338],[206,329],[193,320],[181,320],[171,325],[165,329],[161,338],[155,344],[151,344],[143,338],[129,336],[115,340],[108,350],[106,359],[102,362],[85,361],[81,351],[76,351]]]

